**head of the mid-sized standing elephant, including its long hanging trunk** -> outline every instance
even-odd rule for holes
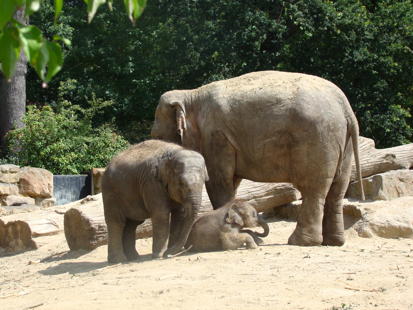
[[[169,192],[172,200],[185,207],[185,221],[178,241],[164,252],[178,253],[188,238],[202,200],[202,187],[209,180],[204,157],[190,150],[174,150],[171,157],[164,157],[158,166],[158,179]]]

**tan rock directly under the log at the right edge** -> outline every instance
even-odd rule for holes
[[[393,200],[413,196],[413,170],[392,170],[363,179],[364,195],[370,200]],[[359,198],[357,182],[349,184],[347,198]]]

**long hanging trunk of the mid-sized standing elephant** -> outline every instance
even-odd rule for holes
[[[201,201],[202,191],[190,191],[188,195],[184,198],[183,205],[186,210],[185,222],[183,224],[178,241],[174,246],[172,246],[164,252],[164,257],[167,257],[168,255],[175,255],[179,253],[180,250],[182,250],[182,247],[185,245],[186,240],[188,239],[188,235],[191,231],[192,225],[194,224],[195,219],[197,218],[199,208],[201,207]]]

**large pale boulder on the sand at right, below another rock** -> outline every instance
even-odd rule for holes
[[[343,214],[344,218],[353,217],[355,223],[352,228],[363,238],[379,236],[413,239],[412,196],[371,203],[347,202],[344,204]],[[358,216],[360,217],[357,219]]]

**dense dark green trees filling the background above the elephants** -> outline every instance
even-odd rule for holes
[[[73,47],[56,83],[78,81],[73,104],[91,93],[116,102],[95,122],[116,117],[131,142],[148,137],[163,92],[268,69],[337,84],[378,147],[412,141],[411,1],[153,0],[135,27],[121,9],[101,7],[88,25],[83,2],[65,2]],[[33,24],[53,33],[42,12]],[[56,101],[52,83],[30,99]]]

